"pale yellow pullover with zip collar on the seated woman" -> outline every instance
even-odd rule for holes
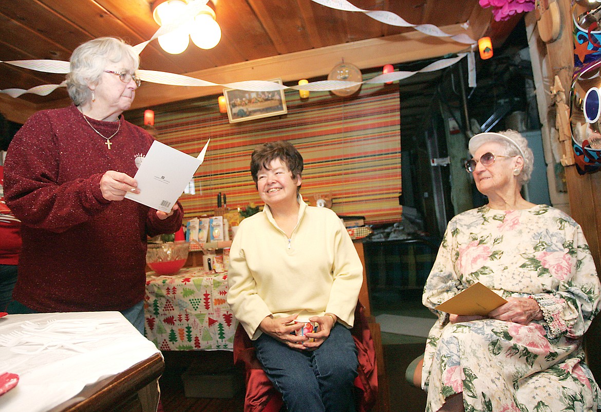
[[[266,316],[334,313],[353,326],[363,266],[340,218],[299,198],[288,239],[269,206],[240,222],[230,249],[227,302],[251,339]]]

